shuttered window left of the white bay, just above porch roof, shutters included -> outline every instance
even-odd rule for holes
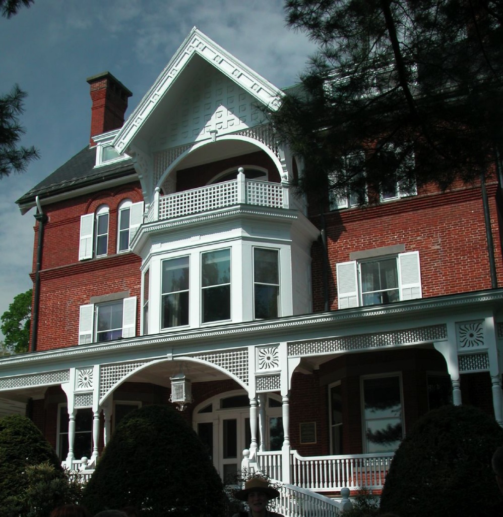
[[[136,296],[80,306],[78,344],[136,335]]]

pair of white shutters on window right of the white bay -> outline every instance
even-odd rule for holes
[[[397,257],[398,288],[400,301],[422,298],[419,252],[409,251],[391,255]],[[372,257],[371,260],[389,258],[390,255]],[[348,261],[336,264],[337,300],[339,309],[362,307],[359,262]],[[367,306],[371,307],[371,306]]]

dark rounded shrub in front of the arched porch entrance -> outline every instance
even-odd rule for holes
[[[223,486],[208,452],[170,406],[126,415],[84,488],[91,513],[133,506],[145,517],[221,517]]]

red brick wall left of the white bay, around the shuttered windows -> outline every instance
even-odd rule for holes
[[[118,207],[125,199],[133,203],[142,200],[138,184],[47,206],[37,350],[77,345],[79,306],[89,303],[92,296],[122,291],[136,296],[139,332],[141,258],[133,253],[116,253]],[[109,207],[108,255],[79,261],[80,216],[94,212],[102,204]]]

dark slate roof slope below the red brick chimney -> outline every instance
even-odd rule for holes
[[[37,195],[40,199],[43,199],[44,197],[135,173],[131,158],[94,168],[95,163],[96,148],[90,148],[87,145],[38,185],[21,196],[16,203],[20,206],[33,204]]]

